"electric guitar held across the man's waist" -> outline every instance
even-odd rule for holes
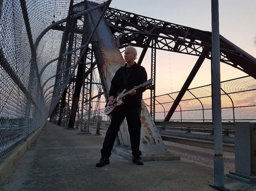
[[[135,88],[131,89],[131,90],[137,90],[137,89],[140,89],[140,88],[143,88],[143,87],[148,87],[152,84],[153,80],[152,78],[145,81],[144,83],[140,84],[139,86],[136,86]],[[130,91],[131,91],[130,90]],[[120,94],[118,94],[118,96],[114,99],[113,101],[113,104],[110,105],[109,104],[109,101],[108,101],[108,104],[106,105],[106,108],[105,108],[105,111],[104,113],[106,115],[111,115],[115,110],[116,108],[118,107],[121,107],[122,105],[124,105],[124,102],[123,100],[125,99],[125,97],[128,97],[130,94],[129,94],[129,91],[126,91],[126,89],[124,89]]]

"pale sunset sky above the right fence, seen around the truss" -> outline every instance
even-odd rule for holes
[[[211,0],[112,0],[110,7],[164,20],[195,29],[211,31]],[[256,57],[256,1],[219,0],[220,34]],[[138,57],[141,48],[137,48]],[[198,57],[157,50],[156,95],[180,91]],[[142,66],[150,78],[151,51]],[[221,63],[221,81],[245,76],[244,72]],[[189,88],[211,83],[210,61],[205,60]],[[150,97],[145,91],[143,98]]]

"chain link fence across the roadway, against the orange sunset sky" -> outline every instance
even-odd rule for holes
[[[155,120],[164,120],[179,92],[155,97]],[[221,114],[223,122],[256,122],[256,80],[245,76],[221,82]],[[144,100],[148,109],[150,98]],[[211,85],[186,91],[172,121],[212,122]]]

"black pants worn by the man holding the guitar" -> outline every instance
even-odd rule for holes
[[[117,108],[116,111],[114,111],[102,146],[102,157],[110,157],[111,150],[116,140],[117,132],[119,131],[120,125],[122,124],[122,121],[125,119],[125,117],[130,134],[132,155],[134,157],[140,157],[140,113],[141,106],[131,107],[129,104],[125,104],[124,106],[121,106],[120,108]]]

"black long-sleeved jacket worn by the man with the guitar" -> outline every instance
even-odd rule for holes
[[[125,86],[124,77],[127,78],[127,86]],[[143,66],[140,66],[137,63],[135,63],[133,66],[131,66],[130,73],[129,70],[127,73],[127,64],[125,64],[125,66],[122,66],[116,71],[116,74],[114,75],[111,81],[109,97],[116,97],[116,95],[121,93],[124,89],[129,91],[132,88],[134,88],[134,86],[138,86],[141,83],[144,83],[145,81],[147,81],[147,72]],[[136,94],[129,95],[128,97],[126,97],[125,105],[141,106],[142,93],[145,90],[145,87],[140,88],[136,90]]]

